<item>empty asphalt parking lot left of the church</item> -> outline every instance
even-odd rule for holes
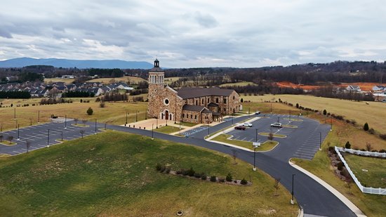
[[[48,147],[60,143],[58,140],[74,140],[83,136],[93,135],[98,133],[98,127],[95,131],[95,123],[86,122],[86,126],[74,126],[74,121],[65,122],[49,122],[46,124],[38,124],[27,126],[25,128],[14,129],[12,131],[0,132],[3,135],[3,140],[8,140],[13,137],[12,142],[16,145],[6,146],[0,145],[1,154],[21,154],[27,152],[27,143],[29,143],[29,151],[36,150],[42,147]]]

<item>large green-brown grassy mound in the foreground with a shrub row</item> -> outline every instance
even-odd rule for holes
[[[237,179],[234,186],[155,171],[157,163]],[[0,216],[298,216],[283,186],[232,157],[106,132],[0,159]]]

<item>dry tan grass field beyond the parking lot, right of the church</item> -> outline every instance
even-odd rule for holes
[[[241,96],[244,100],[252,100],[253,102],[261,102],[265,100],[279,100],[279,98],[288,103],[292,103],[303,107],[310,107],[315,110],[331,112],[339,114],[346,119],[354,119],[360,126],[368,123],[370,128],[386,133],[385,121],[380,117],[386,117],[386,103],[378,102],[355,102],[351,100],[339,100],[333,98],[323,98],[304,95],[265,95],[265,96]]]

